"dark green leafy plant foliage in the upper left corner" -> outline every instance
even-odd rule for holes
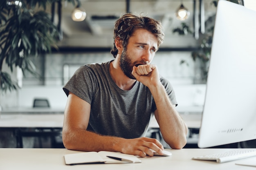
[[[29,56],[37,57],[51,52],[59,40],[59,30],[47,13],[47,5],[61,0],[18,0],[19,4],[9,5],[8,0],[0,1],[0,91],[18,88],[11,76],[2,72],[5,63],[13,72],[13,67],[37,75]],[[79,0],[67,0],[75,5]]]

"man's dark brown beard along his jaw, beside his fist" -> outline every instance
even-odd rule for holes
[[[126,48],[124,48],[121,58],[120,58],[120,68],[124,72],[124,74],[129,77],[130,79],[136,79],[132,75],[132,67],[135,66],[135,63],[132,63],[132,60],[130,59],[129,55],[127,54]]]

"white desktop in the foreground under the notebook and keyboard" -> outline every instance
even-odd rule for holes
[[[139,158],[141,163],[121,164],[88,164],[88,165],[65,165],[63,155],[78,153],[79,151],[67,149],[23,149],[23,148],[0,148],[1,170],[255,170],[255,167],[239,166],[235,163],[248,161],[256,157],[216,163],[213,161],[192,160],[192,157],[220,153],[231,149],[181,149],[172,150],[170,157],[146,157]],[[232,149],[234,150],[234,149]]]

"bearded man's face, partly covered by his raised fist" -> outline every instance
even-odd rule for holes
[[[136,30],[130,37],[127,46],[123,49],[119,66],[124,74],[130,79],[132,67],[141,64],[150,64],[157,51],[157,38],[144,29]]]

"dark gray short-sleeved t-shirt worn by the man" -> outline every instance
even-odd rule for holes
[[[91,104],[87,130],[126,139],[145,136],[156,110],[150,90],[138,81],[129,91],[120,89],[110,76],[109,65],[110,62],[81,66],[63,90],[66,95],[70,91]],[[160,79],[171,102],[177,105],[171,84]]]

